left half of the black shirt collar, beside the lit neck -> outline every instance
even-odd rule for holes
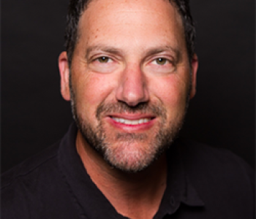
[[[64,175],[69,192],[74,200],[80,218],[114,218],[116,210],[97,186],[91,181],[89,174],[80,160],[75,147],[77,127],[75,123],[61,140],[59,147],[59,166]]]

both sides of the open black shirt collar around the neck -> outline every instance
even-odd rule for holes
[[[108,199],[91,181],[76,151],[76,134],[77,128],[75,123],[72,123],[69,131],[61,140],[58,156],[61,172],[81,218],[124,218],[116,212]],[[167,188],[154,218],[163,218],[166,214],[173,214],[181,203],[192,207],[203,206],[203,201],[197,195],[184,171],[178,142],[173,143],[167,151],[167,163]]]

